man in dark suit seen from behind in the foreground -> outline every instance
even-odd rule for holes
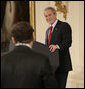
[[[1,57],[1,88],[57,88],[46,56],[31,50],[33,29],[26,22],[12,29],[15,48]]]

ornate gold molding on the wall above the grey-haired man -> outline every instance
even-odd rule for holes
[[[67,5],[68,5],[67,1],[64,1],[64,3],[63,1],[55,1],[57,12],[62,12],[65,20],[67,18]]]

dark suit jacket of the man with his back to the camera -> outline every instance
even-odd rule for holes
[[[2,88],[57,88],[48,58],[26,46],[1,57]]]

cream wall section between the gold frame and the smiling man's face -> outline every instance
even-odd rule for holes
[[[50,3],[48,1],[36,1],[36,40],[39,42],[45,42],[45,31],[49,27],[44,18],[44,9],[48,7]]]

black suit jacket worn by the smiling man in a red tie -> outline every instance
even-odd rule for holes
[[[48,42],[48,32],[46,31],[46,44]],[[57,72],[67,72],[72,70],[72,63],[69,53],[69,47],[72,43],[72,30],[68,23],[58,20],[53,32],[50,44],[59,45],[59,68]]]

